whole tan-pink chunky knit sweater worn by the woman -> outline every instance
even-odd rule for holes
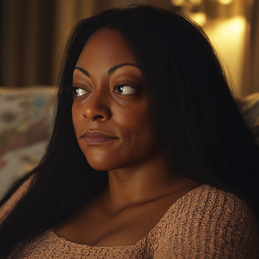
[[[0,219],[8,215],[27,186],[28,180],[2,206]],[[177,200],[134,246],[75,244],[49,229],[20,258],[253,259],[259,258],[258,225],[243,200],[204,184]]]

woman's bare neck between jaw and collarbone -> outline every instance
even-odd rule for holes
[[[114,211],[171,195],[188,187],[177,183],[164,170],[160,157],[156,156],[141,164],[131,165],[109,173],[109,188],[105,204]],[[193,189],[193,185],[191,189]]]

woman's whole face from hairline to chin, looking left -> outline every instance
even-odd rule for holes
[[[73,75],[73,124],[90,166],[106,171],[157,155],[140,69],[117,31],[85,44]]]

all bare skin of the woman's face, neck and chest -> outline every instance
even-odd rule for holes
[[[124,92],[119,85],[125,85]],[[177,184],[164,170],[150,129],[141,71],[119,32],[101,30],[87,41],[73,87],[78,144],[92,168],[108,171],[109,186],[53,230],[79,244],[134,245],[172,204],[200,184]]]

